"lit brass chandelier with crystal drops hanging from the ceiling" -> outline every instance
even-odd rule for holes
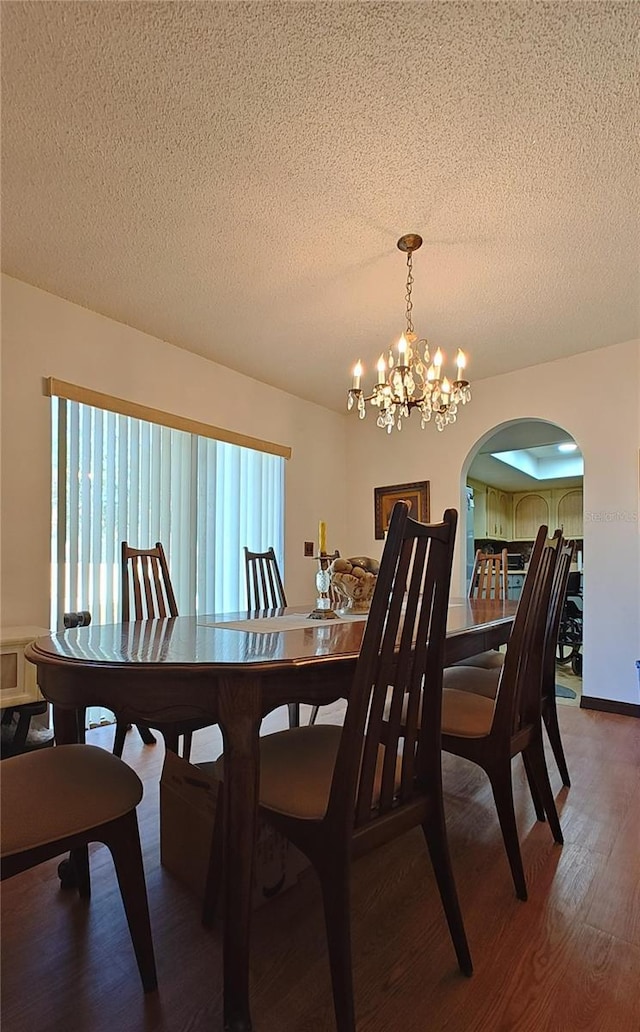
[[[353,370],[353,383],[349,388],[347,408],[355,406],[360,419],[366,415],[366,402],[378,409],[377,424],[390,433],[393,427],[403,428],[403,419],[408,419],[413,409],[420,413],[420,427],[434,419],[439,430],[447,423],[454,423],[459,405],[471,401],[471,388],[465,380],[467,359],[458,348],[455,358],[456,377],[453,382],[443,375],[444,355],[438,348],[433,359],[428,342],[418,340],[413,330],[413,252],[422,246],[422,237],[417,233],[401,236],[397,247],[407,254],[407,329],[394,348],[390,347],[386,358],[382,354],[378,360],[378,382],[371,394],[365,395],[360,386],[362,363]]]

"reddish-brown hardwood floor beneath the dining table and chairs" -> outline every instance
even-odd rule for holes
[[[323,719],[331,713],[321,711]],[[458,973],[419,832],[353,869],[359,1032],[637,1032],[640,1028],[640,721],[565,706],[561,728],[573,786],[551,781],[565,833],[535,819],[522,767],[515,796],[530,899],[516,900],[482,772],[444,757],[450,843],[475,963]],[[284,725],[273,714],[270,730]],[[113,729],[88,740],[110,748]],[[214,729],[193,759],[219,750]],[[92,852],[87,906],[59,889],[57,862],[2,885],[3,1032],[219,1032],[220,927],[160,866],[158,779],[163,746],[127,736],[145,781],[139,807],[159,991],[146,998],[113,866]],[[1,773],[1,767],[0,767]],[[333,1032],[318,883],[300,883],[254,915],[256,1032]]]

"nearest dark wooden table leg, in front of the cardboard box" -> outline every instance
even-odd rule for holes
[[[258,806],[259,679],[223,680],[220,727],[224,740],[224,1027],[251,1032],[249,934]]]

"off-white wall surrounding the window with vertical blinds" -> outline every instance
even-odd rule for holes
[[[42,378],[54,376],[140,405],[289,445],[285,585],[291,605],[315,595],[303,542],[346,534],[347,417],[216,365],[2,277],[1,608],[4,626],[49,626],[51,426]]]

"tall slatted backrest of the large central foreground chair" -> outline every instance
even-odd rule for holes
[[[456,523],[452,509],[434,524],[411,519],[406,503],[393,509],[327,819],[353,823],[355,813],[355,826],[361,828],[412,804],[428,778],[431,787],[434,777],[440,778],[442,670]]]

